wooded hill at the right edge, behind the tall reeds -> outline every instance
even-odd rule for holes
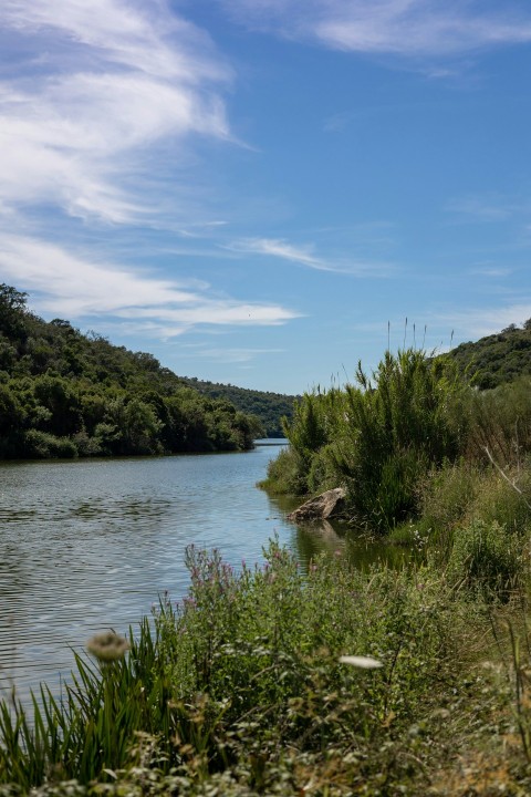
[[[449,352],[449,356],[462,371],[473,375],[480,390],[531,375],[531,319],[522,328],[511,324],[497,334],[461,343]]]

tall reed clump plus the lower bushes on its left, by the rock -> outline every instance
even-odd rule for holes
[[[285,424],[290,448],[267,486],[304,494],[342,485],[356,521],[387,530],[414,509],[418,478],[458,456],[462,390],[457,369],[413,349],[387,352],[372,380],[360,365],[356,385],[298,403]]]

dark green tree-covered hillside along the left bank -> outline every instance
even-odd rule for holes
[[[187,386],[145,352],[45,322],[0,284],[0,457],[243,451],[258,418]]]

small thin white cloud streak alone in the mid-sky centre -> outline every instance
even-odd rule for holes
[[[314,255],[313,244],[293,245],[282,238],[241,238],[225,245],[223,248],[235,252],[280,258],[317,271],[333,271],[358,277],[385,277],[394,271],[391,263],[320,258]]]

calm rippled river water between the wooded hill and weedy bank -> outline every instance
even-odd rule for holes
[[[239,566],[278,535],[304,562],[345,548],[324,524],[298,529],[256,487],[280,445],[246,454],[0,464],[0,696],[56,691],[96,631],[125,632],[166,590],[180,598],[191,542]],[[377,555],[352,541],[355,555]]]

